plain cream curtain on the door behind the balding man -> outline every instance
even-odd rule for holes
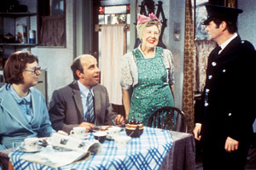
[[[119,79],[120,61],[125,54],[125,32],[125,25],[102,25],[101,83],[108,89],[109,102],[114,105],[122,105]]]

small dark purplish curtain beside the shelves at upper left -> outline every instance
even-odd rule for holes
[[[40,45],[66,46],[65,16],[43,16]]]

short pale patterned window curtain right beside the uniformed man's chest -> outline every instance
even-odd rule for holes
[[[212,49],[216,47],[213,41],[195,41],[196,83],[195,92],[201,94],[206,85],[207,61]]]

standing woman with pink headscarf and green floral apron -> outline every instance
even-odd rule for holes
[[[136,118],[147,125],[154,111],[174,106],[173,61],[171,51],[156,47],[160,20],[153,13],[149,17],[138,14],[137,20],[137,34],[142,43],[123,56],[120,84],[126,120]]]

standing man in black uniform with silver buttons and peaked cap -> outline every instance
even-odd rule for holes
[[[241,9],[206,8],[203,24],[218,47],[209,55],[201,116],[193,133],[202,142],[204,170],[244,169],[255,119],[255,49],[237,34]]]

